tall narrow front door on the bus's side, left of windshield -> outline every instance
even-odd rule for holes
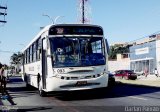
[[[47,54],[46,54],[46,39],[42,39],[42,86],[46,89],[46,76],[47,76]]]

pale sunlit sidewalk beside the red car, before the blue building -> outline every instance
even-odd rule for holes
[[[155,75],[138,76],[136,80],[125,80],[116,78],[117,82],[139,85],[139,86],[148,86],[148,87],[160,87],[160,77],[156,77]]]

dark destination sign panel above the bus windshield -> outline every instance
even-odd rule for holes
[[[103,35],[103,30],[96,26],[54,26],[49,35]]]

